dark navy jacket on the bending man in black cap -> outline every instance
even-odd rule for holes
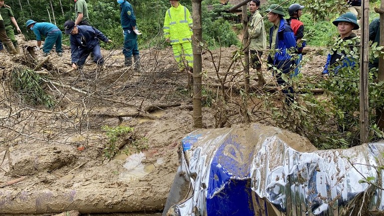
[[[72,63],[79,61],[83,52],[92,50],[93,47],[99,45],[99,39],[108,42],[108,38],[98,29],[88,25],[76,25],[79,32],[71,34],[69,40],[71,42],[71,59]]]

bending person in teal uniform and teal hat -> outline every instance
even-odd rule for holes
[[[44,56],[48,56],[49,52],[56,45],[56,52],[58,56],[63,56],[63,50],[61,48],[61,30],[50,22],[36,22],[29,19],[25,23],[26,27],[31,29],[36,35],[37,46],[39,50],[41,46],[41,35],[45,37],[43,45]]]

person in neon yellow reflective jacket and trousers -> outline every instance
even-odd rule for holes
[[[192,16],[187,7],[178,0],[170,0],[171,8],[164,19],[164,37],[170,42],[180,69],[193,67]],[[184,61],[186,60],[187,63]]]

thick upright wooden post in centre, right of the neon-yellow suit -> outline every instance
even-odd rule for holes
[[[201,113],[201,0],[192,0],[193,15],[193,123],[195,128],[202,128]]]

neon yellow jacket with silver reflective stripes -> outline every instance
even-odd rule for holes
[[[171,7],[164,18],[164,37],[171,44],[192,42],[192,16],[187,7],[179,3],[178,8]]]

